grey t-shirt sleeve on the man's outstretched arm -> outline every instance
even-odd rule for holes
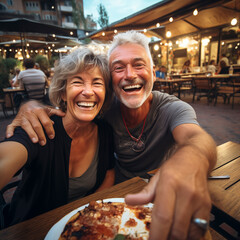
[[[181,124],[197,124],[197,116],[195,110],[188,103],[183,101],[175,101],[169,106],[170,111],[170,130]]]

